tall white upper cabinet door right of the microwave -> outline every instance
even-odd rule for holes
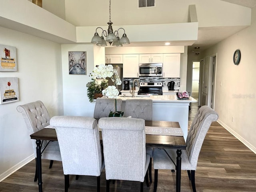
[[[180,53],[163,54],[163,77],[180,77]]]

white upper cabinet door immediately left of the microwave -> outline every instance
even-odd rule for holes
[[[124,78],[139,77],[139,55],[138,54],[123,55],[123,77]]]

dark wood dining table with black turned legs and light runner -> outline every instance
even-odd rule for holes
[[[96,119],[98,121],[98,119]],[[100,130],[100,129],[99,129]],[[179,122],[149,121],[145,120],[146,147],[176,149],[176,192],[180,192],[182,150],[186,149],[186,142],[183,137]],[[36,169],[38,174],[38,191],[42,192],[42,140],[58,141],[56,130],[50,126],[30,135],[36,140]],[[101,131],[100,139],[102,141]],[[170,159],[171,160],[171,159]],[[153,158],[154,161],[154,158]]]

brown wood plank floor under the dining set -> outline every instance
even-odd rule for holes
[[[197,103],[191,105],[189,124],[198,110]],[[64,175],[61,162],[55,161],[49,169],[48,160],[42,160],[43,191],[64,192]],[[34,182],[35,160],[20,168],[0,183],[0,192],[36,192]],[[154,170],[152,170],[154,175]],[[192,192],[186,171],[182,171],[181,191]],[[158,171],[158,192],[175,191],[175,173]],[[106,191],[105,172],[101,174],[101,191]],[[96,177],[70,176],[69,192],[95,192]],[[153,192],[154,180],[150,187],[144,184],[144,192]],[[213,122],[202,145],[196,170],[198,192],[255,192],[256,154],[224,129]],[[140,191],[139,182],[116,181],[110,184],[112,192]]]

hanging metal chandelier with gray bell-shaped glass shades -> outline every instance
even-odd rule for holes
[[[92,41],[91,43],[95,43],[98,46],[107,46],[107,42],[109,42],[109,44],[111,45],[113,43],[112,46],[117,46],[117,47],[122,47],[123,44],[130,44],[130,41],[128,39],[128,37],[125,34],[125,30],[124,28],[119,28],[118,30],[116,30],[115,32],[113,32],[113,28],[112,28],[112,22],[111,22],[111,0],[109,0],[109,22],[108,24],[108,35],[106,30],[103,30],[101,27],[97,27],[96,28],[96,32],[94,33],[94,36],[92,37]],[[102,34],[101,36],[99,36],[99,34],[97,33],[97,29],[101,29],[102,30]],[[124,34],[122,36],[122,38],[119,38],[118,35],[118,31],[122,29],[124,30]],[[106,37],[106,40],[104,40],[104,37]]]

